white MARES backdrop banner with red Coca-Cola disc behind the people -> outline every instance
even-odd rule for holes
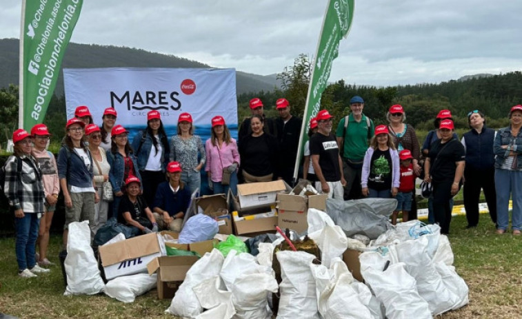
[[[225,118],[237,135],[236,71],[212,68],[86,68],[63,69],[67,118],[87,105],[94,123],[101,125],[106,107],[118,112],[117,124],[132,136],[145,129],[147,112],[157,110],[169,138],[177,130],[179,114],[192,115],[203,143],[210,136],[210,120]]]

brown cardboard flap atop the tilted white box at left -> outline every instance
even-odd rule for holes
[[[120,263],[123,260],[148,256],[160,251],[157,234],[136,236],[119,243],[99,247],[103,267]]]

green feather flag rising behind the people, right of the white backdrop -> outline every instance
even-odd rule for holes
[[[306,96],[305,112],[303,116],[303,126],[299,138],[299,148],[297,151],[294,178],[299,172],[299,163],[303,154],[303,146],[308,139],[306,131],[310,126],[310,119],[317,116],[321,107],[321,94],[328,85],[332,62],[339,56],[339,42],[343,37],[348,36],[354,17],[355,0],[330,0],[326,8],[323,27],[317,43],[317,51],[314,56],[312,68],[312,79],[308,86]]]

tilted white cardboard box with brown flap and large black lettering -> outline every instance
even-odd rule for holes
[[[99,256],[107,280],[147,272],[147,264],[165,255],[157,234],[136,236],[119,243],[102,245]]]

